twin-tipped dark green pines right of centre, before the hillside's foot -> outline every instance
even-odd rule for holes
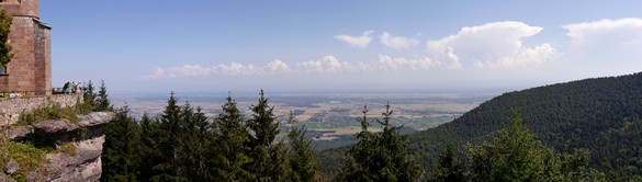
[[[382,133],[368,130],[368,110],[363,109],[361,133],[359,141],[347,152],[347,159],[341,166],[339,181],[417,181],[423,175],[419,166],[409,160],[407,136],[399,135],[399,126],[390,123],[392,111],[386,104],[382,113],[383,121],[376,120],[383,126]]]

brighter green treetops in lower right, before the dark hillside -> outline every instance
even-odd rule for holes
[[[589,153],[560,155],[543,147],[516,114],[492,141],[469,147],[471,181],[606,181],[588,168]]]

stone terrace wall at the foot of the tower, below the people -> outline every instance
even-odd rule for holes
[[[82,101],[82,94],[55,94],[49,96],[32,96],[0,99],[0,126],[11,125],[18,122],[22,111],[30,112],[37,107],[46,106],[49,103],[56,103],[60,106],[74,106],[77,101]]]

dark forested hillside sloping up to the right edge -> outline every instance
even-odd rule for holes
[[[557,151],[588,149],[592,167],[617,171],[611,172],[611,177],[640,174],[642,162],[637,159],[641,155],[638,144],[642,138],[635,116],[642,113],[642,73],[505,93],[453,122],[412,135],[409,148],[418,153],[418,160],[428,171],[435,171],[432,168],[447,143],[462,149],[469,143],[477,145],[489,139],[493,132],[510,121],[511,109],[522,111],[523,123],[544,146]],[[633,122],[624,125],[624,121]],[[337,169],[336,158],[345,150],[320,153],[319,159],[328,172]]]

